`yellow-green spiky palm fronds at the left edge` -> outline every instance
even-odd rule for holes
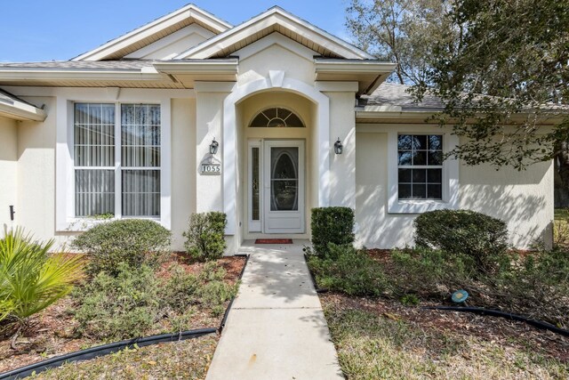
[[[67,295],[83,277],[77,255],[50,255],[53,241],[33,241],[23,230],[4,230],[0,239],[0,320],[23,321]]]

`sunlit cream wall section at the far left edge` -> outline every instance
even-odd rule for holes
[[[10,230],[17,221],[10,220],[10,206],[19,211],[18,200],[18,130],[17,122],[0,117],[0,236],[4,226]]]

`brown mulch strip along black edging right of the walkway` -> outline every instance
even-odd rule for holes
[[[326,305],[334,308],[373,312],[378,317],[401,320],[431,332],[475,336],[486,342],[515,349],[531,347],[562,362],[569,362],[569,338],[531,327],[523,322],[453,311],[430,311],[405,306],[388,299],[350,297],[335,293],[320,295]],[[434,306],[421,303],[421,306]]]

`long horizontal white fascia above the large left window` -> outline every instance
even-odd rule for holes
[[[0,80],[73,80],[86,81],[118,80],[118,81],[170,81],[168,77],[157,73],[155,69],[101,70],[101,69],[0,69]]]

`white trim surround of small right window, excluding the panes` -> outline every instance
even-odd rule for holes
[[[397,126],[388,132],[388,212],[389,214],[421,214],[427,211],[459,207],[459,161],[447,158],[443,163],[442,200],[399,200],[397,195],[397,135],[442,134],[443,150],[453,150],[459,143],[458,136],[445,132],[438,127]]]

